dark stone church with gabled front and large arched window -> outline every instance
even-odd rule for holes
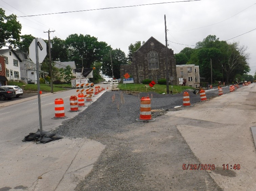
[[[132,63],[120,66],[120,75],[132,75],[136,84],[141,84],[143,79],[151,79],[157,83],[159,79],[166,79],[166,46],[150,37],[137,51],[132,54]],[[169,79],[177,85],[176,61],[173,50],[167,49]],[[169,80],[171,83],[171,80]]]

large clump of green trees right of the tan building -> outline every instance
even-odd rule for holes
[[[189,59],[190,64],[200,66],[200,76],[209,82],[211,78],[210,60],[212,60],[212,76],[214,81],[234,81],[237,74],[250,71],[247,63],[249,54],[245,46],[238,43],[219,41],[215,35],[208,35],[202,42],[196,43],[196,49]]]

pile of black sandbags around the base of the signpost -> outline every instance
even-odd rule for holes
[[[49,131],[42,131],[42,134],[43,136],[40,137],[41,133],[40,133],[40,129],[38,129],[36,133],[29,133],[27,136],[25,136],[23,141],[40,141],[42,143],[47,143],[53,140],[63,138],[62,136]]]

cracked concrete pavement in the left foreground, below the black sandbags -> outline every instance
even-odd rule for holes
[[[74,190],[93,168],[101,143],[63,138],[47,144],[23,142],[1,166],[0,190]]]

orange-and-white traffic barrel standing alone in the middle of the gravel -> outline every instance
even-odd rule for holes
[[[149,97],[142,97],[140,99],[140,118],[136,121],[155,121],[151,118],[151,100]]]

